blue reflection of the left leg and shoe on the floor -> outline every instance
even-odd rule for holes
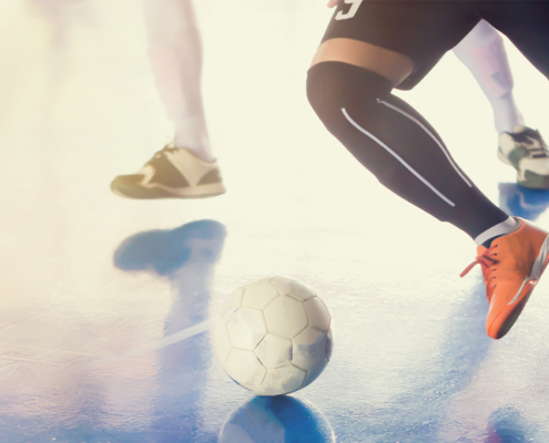
[[[125,239],[114,265],[125,271],[150,271],[172,281],[176,295],[164,323],[164,337],[207,319],[214,265],[225,240],[214,220],[172,230],[149,230]],[[194,441],[201,426],[201,399],[212,361],[209,334],[201,333],[157,351],[157,395],[151,425],[153,441]],[[214,434],[211,435],[214,439]]]

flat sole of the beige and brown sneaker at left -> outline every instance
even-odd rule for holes
[[[162,185],[151,187],[144,186],[120,186],[111,185],[114,194],[125,198],[157,199],[157,198],[209,198],[225,194],[226,189],[222,183],[201,185],[186,188],[173,188]]]

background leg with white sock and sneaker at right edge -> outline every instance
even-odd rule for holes
[[[549,155],[538,131],[525,126],[512,96],[512,75],[504,39],[488,22],[480,21],[454,48],[469,69],[494,110],[499,133],[498,157],[517,169],[517,182],[526,187],[549,188]]]

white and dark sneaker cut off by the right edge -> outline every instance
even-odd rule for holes
[[[549,151],[538,131],[516,126],[499,136],[498,157],[517,169],[517,183],[535,189],[549,189]]]

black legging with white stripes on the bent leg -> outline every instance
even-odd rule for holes
[[[323,62],[308,71],[313,109],[384,186],[474,239],[506,220],[433,126],[390,90],[385,78],[347,63]]]

